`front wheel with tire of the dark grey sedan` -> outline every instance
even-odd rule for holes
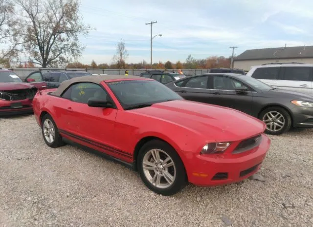
[[[291,128],[291,116],[279,106],[268,107],[263,110],[259,117],[266,124],[266,133],[280,135],[288,132]]]

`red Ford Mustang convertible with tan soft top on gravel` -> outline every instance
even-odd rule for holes
[[[266,125],[240,111],[186,101],[152,79],[87,76],[37,93],[34,113],[45,143],[70,140],[127,163],[156,193],[186,183],[241,181],[260,168]]]

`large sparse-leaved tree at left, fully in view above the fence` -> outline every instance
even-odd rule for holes
[[[16,0],[22,8],[24,49],[42,67],[64,65],[77,59],[84,46],[79,35],[90,27],[83,23],[78,0]]]

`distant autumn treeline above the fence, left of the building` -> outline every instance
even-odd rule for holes
[[[230,58],[225,58],[223,56],[212,56],[206,59],[196,59],[189,55],[185,62],[158,62],[154,63],[151,67],[145,61],[139,63],[124,63],[121,67],[118,63],[99,63],[97,64],[94,60],[90,64],[83,64],[81,62],[72,62],[67,64],[67,68],[127,68],[127,69],[208,69],[208,68],[229,68],[230,67]]]

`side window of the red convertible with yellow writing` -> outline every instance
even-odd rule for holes
[[[75,83],[71,85],[61,95],[65,99],[70,99],[77,103],[88,103],[90,98],[95,98],[101,101],[107,101],[107,92],[98,84],[95,83]]]

